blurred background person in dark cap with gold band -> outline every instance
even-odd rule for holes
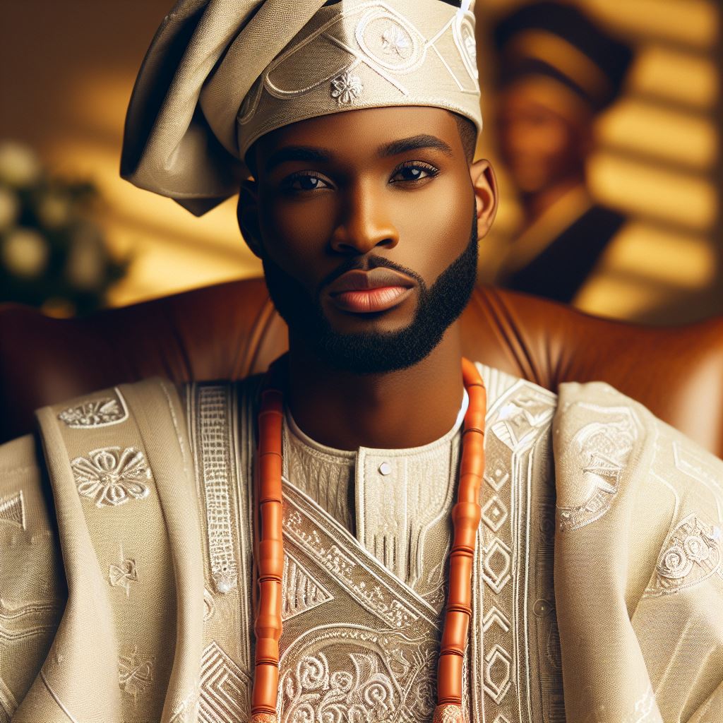
[[[487,275],[496,265],[501,286],[574,304],[625,223],[592,200],[586,163],[632,53],[573,5],[547,0],[505,17],[495,43],[500,150],[524,221]]]

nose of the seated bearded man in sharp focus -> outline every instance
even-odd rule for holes
[[[332,249],[340,254],[366,254],[376,247],[393,249],[399,243],[399,232],[390,211],[390,203],[369,187],[354,189],[341,223],[334,229]]]

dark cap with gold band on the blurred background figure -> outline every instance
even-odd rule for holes
[[[628,46],[581,10],[562,2],[535,2],[495,29],[503,84],[526,75],[552,77],[600,111],[623,86],[633,59]]]

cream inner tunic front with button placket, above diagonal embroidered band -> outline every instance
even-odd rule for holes
[[[453,427],[427,445],[338,450],[313,440],[286,408],[283,475],[362,547],[440,611],[452,539],[464,390]]]

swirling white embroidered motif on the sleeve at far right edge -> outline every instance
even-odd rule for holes
[[[658,557],[646,597],[675,593],[702,582],[721,565],[722,531],[696,515],[678,523]]]

